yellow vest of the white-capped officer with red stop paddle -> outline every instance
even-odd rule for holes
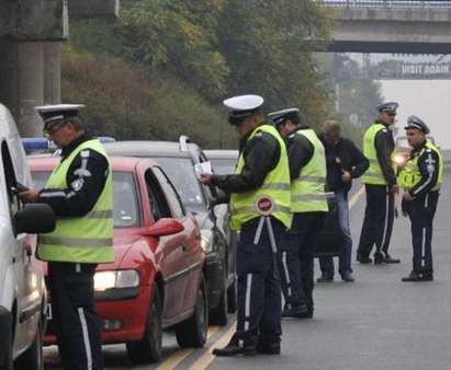
[[[247,193],[232,194],[230,228],[233,230],[239,230],[244,223],[260,217],[256,204],[259,198],[264,196],[270,197],[275,203],[271,216],[280,220],[286,228],[290,228],[291,226],[290,167],[285,142],[278,130],[269,125],[258,126],[249,136],[248,140],[259,132],[267,132],[278,140],[280,146],[280,158],[275,167],[264,177],[263,185],[260,188]],[[241,152],[235,173],[240,174],[244,167],[245,159]]]

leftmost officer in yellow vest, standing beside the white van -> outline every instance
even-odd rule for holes
[[[100,263],[114,261],[113,184],[103,146],[84,131],[82,105],[36,107],[44,131],[61,159],[41,192],[24,201],[46,203],[57,216],[54,232],[38,238],[37,257],[48,262],[53,324],[65,370],[101,370],[101,323],[93,278]]]

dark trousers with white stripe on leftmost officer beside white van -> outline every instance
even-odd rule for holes
[[[95,264],[48,264],[52,314],[65,370],[102,370],[101,323],[94,308]]]

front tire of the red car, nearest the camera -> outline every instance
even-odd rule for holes
[[[143,339],[126,344],[127,355],[132,363],[155,363],[161,358],[162,328],[161,328],[161,302],[158,287],[154,287],[149,314]]]

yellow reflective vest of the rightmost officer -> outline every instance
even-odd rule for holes
[[[406,190],[411,189],[422,180],[421,172],[418,169],[418,159],[425,153],[427,149],[435,151],[439,157],[439,177],[437,178],[437,184],[432,187],[431,192],[438,192],[443,183],[443,158],[440,150],[431,142],[427,142],[421,152],[408,160],[406,166],[401,171],[399,174],[399,186]]]

